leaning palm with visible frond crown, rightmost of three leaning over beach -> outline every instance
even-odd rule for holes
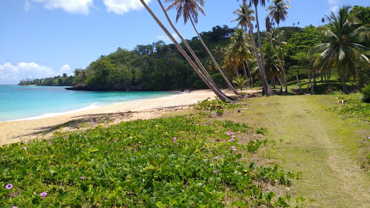
[[[160,2],[160,0],[158,0]],[[209,56],[212,58],[212,61],[215,63],[216,67],[218,68],[219,72],[221,73],[222,77],[225,79],[226,83],[228,84],[229,88],[235,93],[236,95],[239,95],[238,92],[236,92],[235,88],[230,83],[229,79],[225,76],[221,68],[218,66],[217,61],[211,54],[211,51],[209,51],[208,47],[203,42],[202,37],[198,33],[198,30],[196,30],[195,24],[198,24],[198,10],[205,15],[204,10],[202,6],[204,5],[204,0],[165,0],[165,2],[172,2],[165,11],[168,11],[170,9],[176,8],[177,15],[176,15],[176,23],[179,20],[181,16],[184,18],[184,24],[187,23],[188,20],[190,20],[196,34],[199,37],[199,40],[201,41],[203,47],[208,52]],[[165,13],[166,14],[166,13]],[[169,18],[168,18],[168,21]],[[172,24],[172,23],[171,23]],[[174,26],[173,26],[174,27]]]

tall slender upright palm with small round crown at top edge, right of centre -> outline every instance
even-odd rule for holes
[[[271,20],[275,21],[277,24],[277,34],[279,35],[279,47],[281,48],[281,40],[280,40],[280,28],[279,24],[280,21],[284,22],[286,20],[286,17],[288,15],[287,9],[291,9],[291,6],[288,6],[290,4],[290,1],[284,2],[283,0],[271,0],[272,5],[268,6],[266,10],[269,11],[267,14],[271,17]],[[295,23],[293,23],[293,27],[295,26]],[[281,50],[279,50],[281,52]],[[282,57],[282,54],[280,53],[280,57]],[[288,92],[287,84],[286,84],[286,76],[285,76],[285,70],[282,68],[283,74],[284,74],[284,81],[285,81],[285,93]]]

